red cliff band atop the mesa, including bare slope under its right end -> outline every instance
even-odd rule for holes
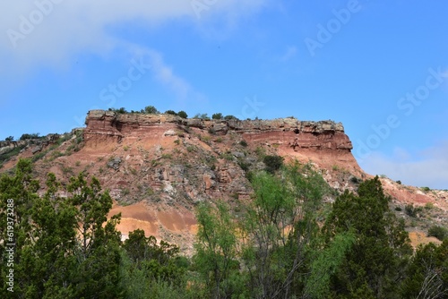
[[[116,114],[112,111],[91,110],[86,118],[84,139],[94,145],[110,138],[159,138],[171,130],[194,128],[217,135],[236,132],[250,143],[275,148],[286,158],[312,161],[318,167],[341,167],[354,175],[362,175],[351,154],[352,144],[340,123],[332,121],[299,121],[296,118],[274,120],[202,120],[184,119],[177,115]]]

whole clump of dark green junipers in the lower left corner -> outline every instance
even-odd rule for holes
[[[88,184],[79,175],[70,196],[59,198],[61,184],[49,174],[47,192],[39,197],[30,160],[20,160],[16,169],[13,177],[0,179],[2,204],[14,201],[14,292],[27,298],[116,297],[119,216],[107,220],[112,200],[100,192],[98,180]],[[2,235],[4,228],[2,223]],[[5,297],[5,285],[1,292]]]

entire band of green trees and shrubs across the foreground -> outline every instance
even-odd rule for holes
[[[8,240],[13,227],[15,243],[13,295],[133,299],[448,295],[448,240],[421,245],[413,252],[404,223],[389,209],[391,199],[384,195],[378,177],[359,182],[358,192],[344,192],[328,206],[323,198],[331,188],[313,167],[285,166],[275,157],[267,162],[275,166],[273,173],[251,172],[251,201],[239,202],[237,209],[224,201],[198,205],[194,255],[188,258],[176,244],[158,243],[139,229],[122,242],[116,231],[120,215],[108,218],[112,199],[95,177],[82,173],[63,185],[48,174],[46,192],[39,195],[32,163],[19,160],[15,174],[0,178],[0,239]],[[59,192],[67,196],[59,197]],[[7,246],[0,242],[2,298],[12,294],[6,280],[9,269],[4,267]]]

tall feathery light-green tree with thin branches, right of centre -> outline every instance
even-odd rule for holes
[[[254,201],[246,207],[243,261],[257,298],[302,295],[307,252],[319,233],[326,184],[309,165],[295,164],[279,176],[255,174]]]

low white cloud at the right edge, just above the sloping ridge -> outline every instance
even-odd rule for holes
[[[404,149],[396,149],[392,157],[374,152],[360,166],[371,175],[387,175],[403,184],[448,189],[447,153],[448,141],[444,141],[415,156]]]

